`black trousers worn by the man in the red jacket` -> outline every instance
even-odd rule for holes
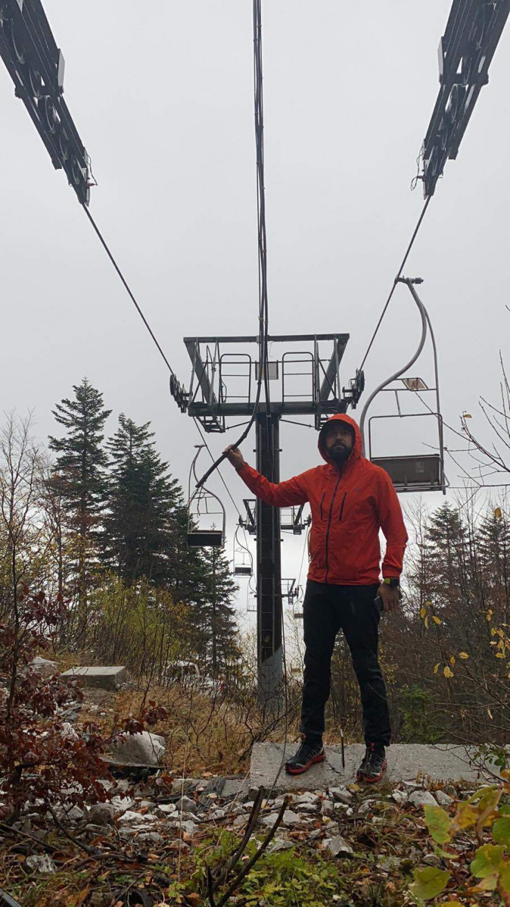
[[[331,689],[334,642],[343,630],[360,684],[365,743],[390,745],[390,713],[377,646],[377,586],[333,586],[308,580],[303,602],[304,684],[301,732],[322,736]]]

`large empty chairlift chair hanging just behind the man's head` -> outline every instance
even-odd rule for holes
[[[395,372],[394,375],[391,375],[386,381],[383,381],[375,391],[370,395],[366,404],[363,407],[360,419],[360,428],[361,436],[363,439],[363,453],[366,451],[367,445],[365,444],[365,417],[368,412],[369,406],[374,400],[374,398],[381,392],[390,392],[395,394],[397,402],[398,412],[395,414],[380,414],[371,416],[369,419],[369,431],[368,431],[368,458],[371,463],[375,463],[377,466],[382,467],[390,475],[391,482],[394,485],[395,491],[397,493],[402,492],[442,492],[443,494],[447,493],[447,478],[445,475],[445,458],[444,458],[444,442],[443,442],[443,418],[440,411],[440,400],[439,400],[439,377],[438,377],[438,350],[436,346],[436,339],[434,332],[432,330],[432,325],[430,323],[430,318],[428,317],[428,312],[421,299],[418,296],[418,293],[415,289],[415,284],[422,283],[420,278],[410,279],[410,278],[399,278],[399,283],[405,283],[409,288],[411,296],[413,297],[416,305],[419,308],[419,314],[421,317],[421,337],[419,341],[418,349],[415,355],[409,360],[409,362],[403,367],[400,368],[398,372]],[[434,354],[434,373],[435,373],[435,386],[428,387],[428,385],[420,377],[402,377],[408,369],[414,365],[416,360],[423,349],[425,340],[427,338],[427,333],[430,334],[430,339],[432,342],[432,349]],[[395,382],[399,381],[399,387],[391,386]],[[432,392],[436,397],[436,407],[432,409],[428,406],[427,403],[420,396],[423,392]],[[425,413],[402,413],[400,409],[399,402],[399,393],[407,392],[419,396],[420,402],[425,406],[427,412]],[[438,453],[418,453],[410,456],[373,456],[372,455],[372,444],[371,444],[371,424],[376,419],[405,419],[405,418],[418,418],[418,417],[428,417],[434,418],[437,422],[438,430]]]

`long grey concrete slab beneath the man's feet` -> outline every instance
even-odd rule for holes
[[[295,743],[287,745],[285,758],[292,756],[296,746]],[[351,784],[356,780],[356,769],[364,751],[362,744],[346,746],[343,769],[341,747],[326,746],[326,761],[313,766],[304,775],[285,775],[283,767],[274,786],[274,793],[282,794],[288,790],[323,791],[329,786]],[[270,788],[274,784],[283,755],[283,744],[255,743],[250,766],[250,787],[263,785],[266,789]],[[472,765],[464,746],[393,744],[387,751],[387,758],[386,779],[390,782],[414,781],[419,773],[429,775],[436,781],[464,779],[482,782],[490,777]],[[498,775],[497,768],[495,774]]]

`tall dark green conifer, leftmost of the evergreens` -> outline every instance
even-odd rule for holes
[[[78,638],[82,641],[88,623],[91,555],[105,492],[104,424],[111,410],[104,408],[102,394],[87,378],[72,389],[74,398],[64,398],[53,410],[65,434],[62,438],[51,436],[49,446],[57,454],[54,472],[59,477],[59,490],[76,540],[72,560],[78,600]]]

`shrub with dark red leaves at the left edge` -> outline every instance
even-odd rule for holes
[[[0,624],[0,819],[13,822],[25,803],[42,807],[82,806],[108,799],[99,778],[108,777],[101,754],[104,739],[89,723],[74,728],[63,707],[82,698],[73,684],[57,674],[43,678],[32,667],[34,656],[48,649],[63,618],[62,600],[25,589],[14,623]],[[120,732],[135,734],[153,725],[164,710],[150,703],[140,717],[120,723]]]

